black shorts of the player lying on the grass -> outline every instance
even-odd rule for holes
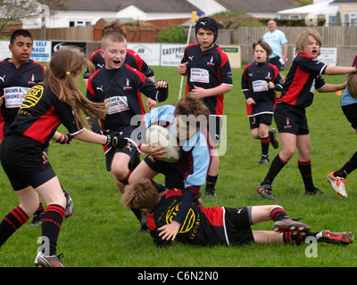
[[[251,229],[252,207],[225,207],[225,223],[229,245],[242,245],[254,241]]]

